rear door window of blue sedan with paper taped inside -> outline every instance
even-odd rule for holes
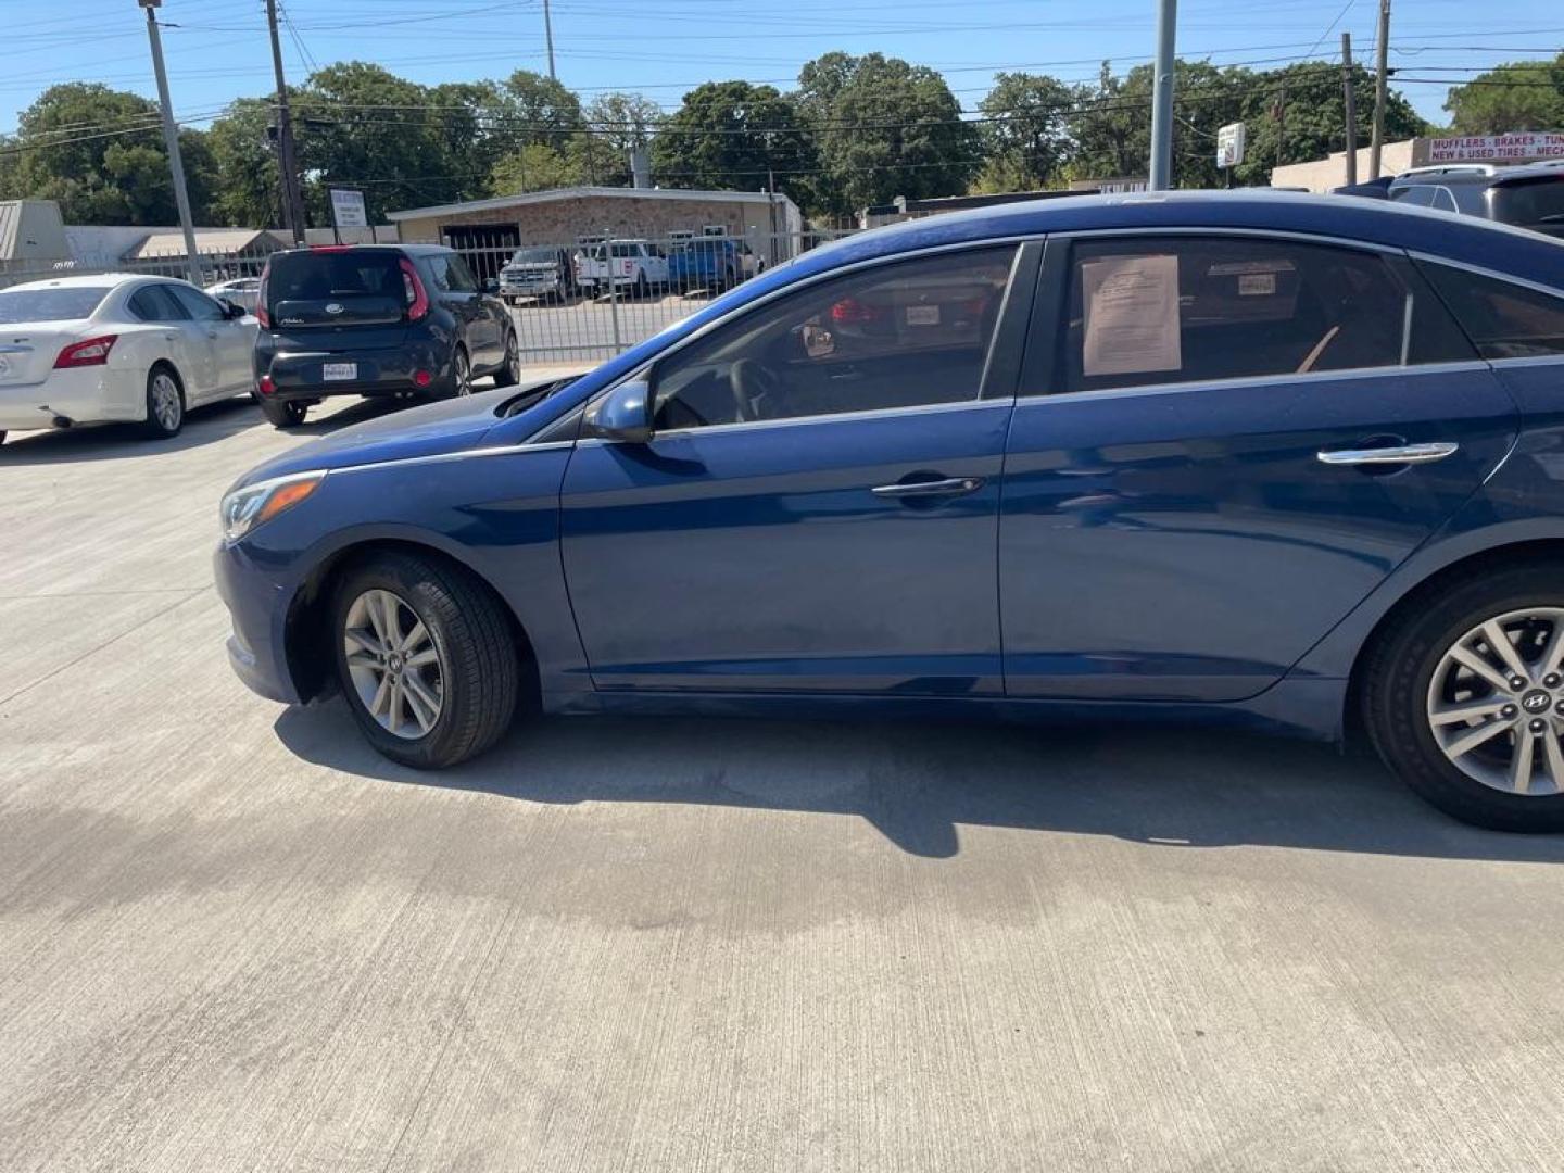
[[[1060,391],[1473,357],[1379,253],[1290,239],[1085,241],[1067,305]]]

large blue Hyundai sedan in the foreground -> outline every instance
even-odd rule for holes
[[[519,708],[1361,727],[1564,829],[1564,244],[1073,199],[810,252],[222,502],[228,651],[411,766]]]

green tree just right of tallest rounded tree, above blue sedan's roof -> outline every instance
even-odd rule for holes
[[[1070,158],[1074,95],[1046,74],[999,74],[978,103],[987,161],[976,186],[987,192],[1031,191],[1059,177]]]

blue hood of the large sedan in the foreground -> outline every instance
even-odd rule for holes
[[[378,465],[386,460],[413,460],[438,457],[447,452],[465,452],[477,447],[483,436],[499,422],[496,414],[502,404],[527,391],[557,382],[579,371],[552,371],[547,377],[526,377],[516,386],[497,391],[480,391],[474,396],[446,399],[438,404],[393,411],[363,424],[332,432],[319,439],[289,449],[280,457],[256,465],[246,472],[235,488],[256,480],[285,477],[289,472],[311,469],[357,468]]]

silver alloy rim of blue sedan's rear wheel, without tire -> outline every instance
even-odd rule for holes
[[[1428,724],[1467,777],[1564,793],[1564,608],[1506,612],[1456,640],[1429,680]]]

